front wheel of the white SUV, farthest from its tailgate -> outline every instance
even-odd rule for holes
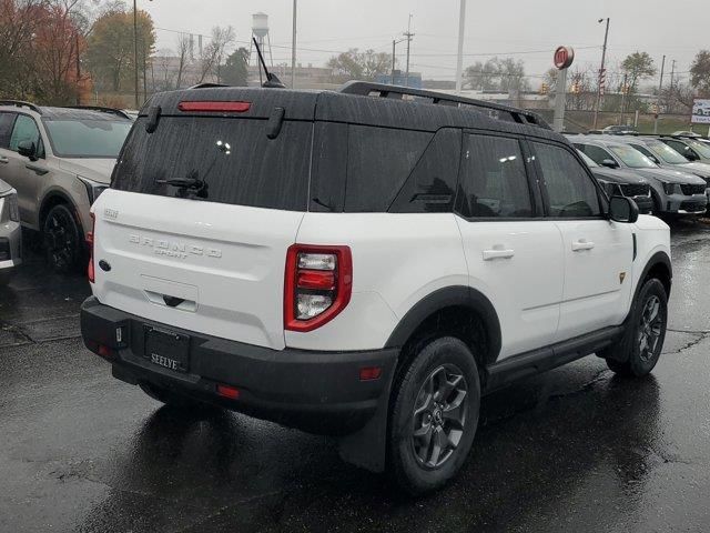
[[[643,283],[627,325],[625,342],[618,344],[627,353],[608,352],[607,365],[619,375],[641,378],[653,370],[666,340],[668,296],[657,279]],[[607,349],[610,350],[610,349]],[[619,350],[619,348],[616,348]],[[602,356],[604,356],[602,355]]]

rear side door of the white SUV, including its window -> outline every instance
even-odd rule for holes
[[[464,135],[456,211],[470,285],[498,312],[500,359],[551,343],[562,296],[562,244],[540,217],[532,163],[515,137]]]

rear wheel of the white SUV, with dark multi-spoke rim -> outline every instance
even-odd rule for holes
[[[458,339],[437,339],[403,370],[389,415],[390,473],[410,494],[446,484],[466,461],[478,425],[476,361]]]

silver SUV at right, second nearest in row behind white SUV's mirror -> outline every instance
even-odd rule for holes
[[[630,169],[651,185],[657,214],[701,214],[706,212],[706,181],[694,174],[661,169],[632,147],[616,138],[570,135],[575,147],[597,164],[610,169]]]

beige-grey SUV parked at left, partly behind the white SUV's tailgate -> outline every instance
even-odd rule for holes
[[[41,233],[54,270],[85,266],[89,208],[131,125],[112,109],[0,101],[0,179],[17,189],[22,225]]]

